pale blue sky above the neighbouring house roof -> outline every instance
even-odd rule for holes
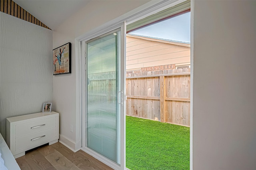
[[[190,12],[130,33],[190,43]]]

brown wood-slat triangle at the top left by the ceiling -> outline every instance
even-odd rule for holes
[[[0,11],[51,30],[12,0],[0,0]]]

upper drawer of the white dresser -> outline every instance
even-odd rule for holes
[[[16,138],[56,127],[56,117],[16,125]]]

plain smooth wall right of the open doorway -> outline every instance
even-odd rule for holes
[[[194,170],[256,169],[255,17],[256,1],[194,2]]]

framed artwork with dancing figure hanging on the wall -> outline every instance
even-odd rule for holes
[[[71,43],[52,50],[53,75],[71,73]]]

